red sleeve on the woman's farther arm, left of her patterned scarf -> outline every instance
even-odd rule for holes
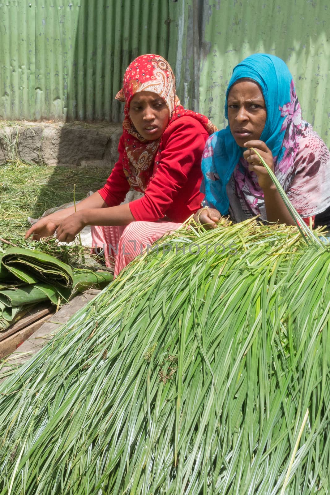
[[[130,190],[130,184],[123,170],[124,150],[124,135],[122,135],[118,145],[119,159],[113,167],[105,185],[97,191],[108,206],[118,206],[118,204],[124,201],[126,194]]]

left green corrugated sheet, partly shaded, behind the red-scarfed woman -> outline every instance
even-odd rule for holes
[[[169,57],[177,8],[172,0],[0,1],[0,116],[120,120],[113,99],[126,67],[141,53]]]

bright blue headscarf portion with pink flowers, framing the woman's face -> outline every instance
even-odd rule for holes
[[[288,143],[284,140],[285,134],[290,131],[290,137],[293,136],[294,141],[301,127],[301,111],[295,95],[292,76],[283,60],[274,55],[256,53],[245,58],[234,68],[227,88],[225,105],[227,119],[229,91],[233,84],[242,78],[255,81],[262,90],[267,118],[260,140],[264,141],[272,151],[275,174],[280,176],[278,178],[282,183],[281,170],[276,165],[282,161],[282,172],[285,169],[286,175],[288,169],[293,166],[293,153],[292,149],[288,150]],[[293,130],[292,122],[294,122]],[[286,133],[287,129],[289,131]],[[226,185],[236,165],[241,166],[239,162],[242,161],[245,149],[236,144],[229,126],[212,134],[206,142],[201,164],[204,175],[202,192],[205,194],[205,204],[214,206],[222,215],[228,214],[229,211]],[[241,171],[246,173],[242,167]],[[285,174],[282,173],[282,179],[285,178]]]

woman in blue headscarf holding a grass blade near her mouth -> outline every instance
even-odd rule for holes
[[[236,65],[226,93],[229,125],[206,142],[205,199],[195,218],[215,227],[221,215],[235,222],[260,215],[293,224],[260,155],[288,198],[309,223],[330,206],[328,148],[301,118],[290,71],[280,58],[257,53]]]

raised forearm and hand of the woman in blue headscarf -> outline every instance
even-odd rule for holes
[[[272,152],[263,141],[248,141],[244,144],[244,147],[255,148],[263,157],[267,165],[274,171]],[[263,165],[260,165],[259,156],[255,154],[252,149],[244,151],[243,156],[250,163],[249,170],[255,172],[258,176],[259,186],[264,193],[267,220],[274,223],[294,225],[295,222],[286,208],[269,173]]]

